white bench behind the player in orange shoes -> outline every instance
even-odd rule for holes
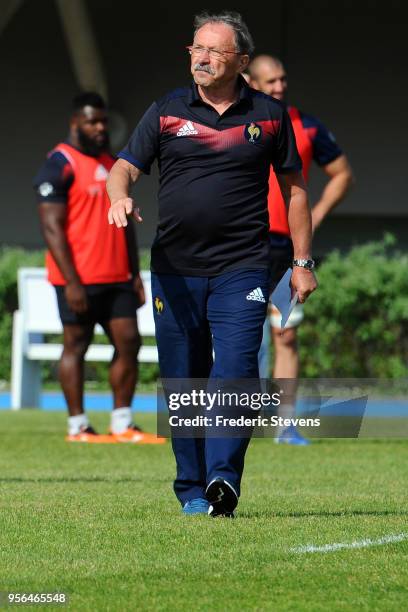
[[[140,335],[154,337],[154,318],[150,290],[150,272],[142,271],[146,304],[137,311]],[[61,334],[55,290],[46,278],[44,268],[20,268],[18,271],[18,306],[13,316],[11,359],[11,407],[39,406],[41,390],[41,361],[58,361],[62,344],[45,342],[47,334]],[[103,334],[95,326],[95,335]],[[91,344],[85,355],[87,361],[109,362],[113,356],[110,344]],[[157,363],[156,346],[142,346],[139,362]]]

